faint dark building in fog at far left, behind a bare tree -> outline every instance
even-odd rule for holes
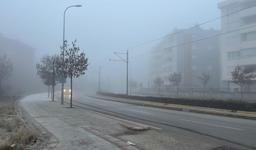
[[[13,64],[13,75],[9,81],[5,82],[9,85],[8,90],[16,92],[34,91],[36,78],[34,51],[35,49],[31,46],[18,40],[5,38],[0,33],[0,55],[6,54]]]

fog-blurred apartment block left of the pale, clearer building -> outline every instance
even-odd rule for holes
[[[214,36],[219,30],[204,30],[199,26],[182,31],[174,29],[160,42],[150,57],[150,80],[160,76],[164,79],[163,87],[170,87],[170,74],[181,72],[182,81],[180,88],[201,88],[202,84],[198,76],[202,72],[210,74],[208,87],[219,88],[220,64],[219,64],[219,38],[209,38],[198,42],[192,42]],[[182,32],[180,32],[182,31]],[[179,32],[177,34],[174,34]],[[189,44],[184,44],[188,43]],[[181,45],[184,44],[184,45]],[[178,46],[180,45],[180,46]]]

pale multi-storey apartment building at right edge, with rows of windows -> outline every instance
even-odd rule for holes
[[[220,37],[223,88],[239,88],[233,83],[230,73],[237,65],[252,67],[256,72],[256,7],[253,5],[256,5],[256,0],[225,0],[218,3],[221,16],[230,14],[221,19],[221,33],[231,32]],[[236,12],[238,10],[242,11]],[[238,31],[232,32],[234,30]],[[256,88],[256,82],[244,88]]]

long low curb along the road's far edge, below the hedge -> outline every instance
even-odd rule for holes
[[[209,111],[208,110],[196,110],[196,109],[190,109],[190,108],[172,107],[172,106],[149,104],[149,103],[143,103],[143,102],[131,102],[131,101],[125,101],[125,100],[113,100],[113,99],[109,99],[109,98],[102,98],[102,97],[92,96],[92,95],[89,95],[89,94],[85,94],[85,95],[89,96],[89,97],[92,97],[92,98],[100,98],[100,99],[103,99],[103,100],[110,100],[110,101],[115,101],[115,102],[123,102],[123,103],[128,103],[128,104],[146,106],[146,107],[154,107],[154,108],[162,108],[162,109],[169,109],[169,110],[194,112],[194,113],[198,113],[198,114],[208,114],[208,115],[223,116],[223,117],[230,117],[230,118],[256,120],[256,116],[246,116],[246,115],[241,115],[241,114],[230,114],[230,113],[223,113],[223,112],[212,112],[210,110]],[[113,98],[115,98],[115,97],[113,97]]]

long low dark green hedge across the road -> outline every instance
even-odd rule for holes
[[[116,97],[116,98],[144,100],[149,102],[160,102],[160,103],[168,103],[168,104],[187,105],[187,106],[199,106],[199,107],[208,107],[208,108],[256,112],[256,103],[249,103],[249,102],[223,101],[223,100],[198,100],[198,99],[186,99],[186,98],[166,98],[166,97],[154,97],[154,96],[129,96],[125,94],[114,94],[114,93],[106,93],[106,92],[97,92],[97,94]]]

